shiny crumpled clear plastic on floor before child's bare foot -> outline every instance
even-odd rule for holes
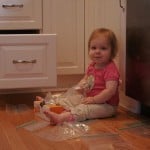
[[[63,141],[85,135],[89,126],[78,122],[64,122],[62,125],[44,128],[35,134],[50,141]]]

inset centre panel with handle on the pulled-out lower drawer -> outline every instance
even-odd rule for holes
[[[45,45],[1,46],[3,77],[41,76],[46,73]]]

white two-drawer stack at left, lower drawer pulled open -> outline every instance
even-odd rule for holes
[[[56,34],[43,34],[43,0],[0,0],[0,33],[0,90],[56,86]]]

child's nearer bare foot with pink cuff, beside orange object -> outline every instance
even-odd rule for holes
[[[45,115],[50,118],[50,122],[52,125],[56,125],[56,124],[62,124],[65,121],[73,121],[74,117],[71,114],[71,112],[65,111],[61,114],[56,114],[54,112],[51,111],[45,111],[44,112]]]

